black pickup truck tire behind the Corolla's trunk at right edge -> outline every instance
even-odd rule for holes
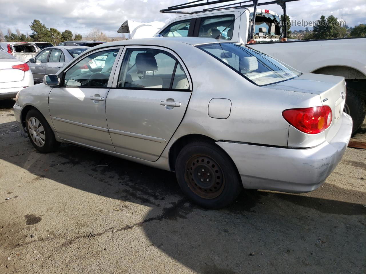
[[[343,111],[352,117],[352,134],[354,134],[365,120],[366,106],[365,101],[353,88],[347,87],[346,104]]]

